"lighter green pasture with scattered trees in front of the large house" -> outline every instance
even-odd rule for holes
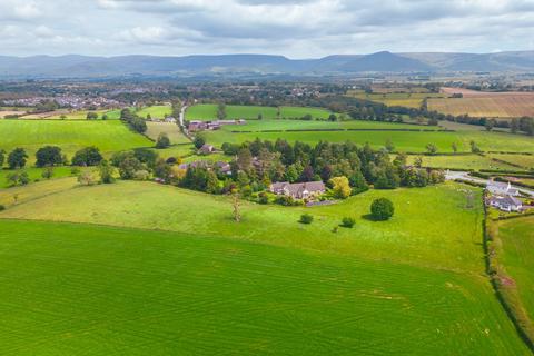
[[[32,186],[38,190],[40,184]],[[231,221],[231,205],[224,196],[136,181],[57,189],[57,194],[30,199],[0,212],[0,217],[222,236],[452,270],[483,268],[478,259],[482,208],[464,209],[464,187],[456,185],[370,190],[337,205],[312,209],[244,202],[244,221],[238,225]],[[384,224],[368,221],[364,216],[370,202],[383,196],[394,201],[395,218]],[[306,211],[316,216],[317,224],[297,224]],[[354,217],[355,228],[333,234],[343,216]]]

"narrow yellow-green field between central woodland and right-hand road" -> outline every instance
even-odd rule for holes
[[[512,156],[512,155],[511,155]],[[517,156],[517,155],[514,155]],[[456,169],[496,169],[517,170],[517,167],[505,162],[494,161],[490,156],[455,155],[455,156],[409,156],[408,164],[413,165],[416,157],[423,159],[423,167],[456,168]]]

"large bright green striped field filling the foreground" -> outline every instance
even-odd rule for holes
[[[487,281],[390,261],[3,220],[0,271],[6,355],[528,354]]]

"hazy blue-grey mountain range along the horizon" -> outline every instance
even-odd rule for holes
[[[123,76],[294,75],[365,72],[534,72],[534,51],[498,53],[392,53],[288,59],[270,55],[222,56],[0,56],[0,78],[96,78]]]

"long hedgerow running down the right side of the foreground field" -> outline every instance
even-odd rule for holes
[[[508,318],[514,324],[520,337],[525,342],[531,352],[534,353],[534,322],[531,320],[524,309],[514,280],[506,275],[504,266],[498,263],[500,253],[503,246],[502,240],[498,237],[498,221],[488,217],[484,200],[485,195],[483,195],[482,202],[484,205],[483,246],[486,274],[490,276],[493,289],[495,290],[495,296],[503,306]]]

